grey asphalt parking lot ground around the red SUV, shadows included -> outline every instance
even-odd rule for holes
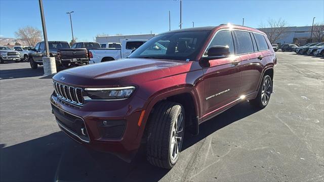
[[[0,65],[1,181],[323,181],[324,59],[278,52],[274,93],[242,102],[187,134],[177,165],[160,169],[88,151],[57,126],[50,76]]]

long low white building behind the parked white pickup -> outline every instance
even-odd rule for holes
[[[150,39],[155,34],[138,34],[138,35],[108,35],[108,36],[97,36],[96,41],[99,43],[105,42],[123,42],[123,40],[127,39]]]

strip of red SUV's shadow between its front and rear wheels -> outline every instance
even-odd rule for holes
[[[199,125],[199,134],[197,136],[191,136],[189,133],[186,133],[182,150],[185,150],[195,143],[205,139],[213,132],[258,111],[260,111],[260,109],[251,106],[248,101],[233,106],[220,115],[201,123]]]

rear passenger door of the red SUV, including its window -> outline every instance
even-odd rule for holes
[[[248,31],[235,30],[237,54],[241,59],[240,70],[242,81],[239,95],[247,96],[253,93],[257,86],[262,72],[260,59],[264,57],[262,52],[258,52],[257,43],[253,33]]]

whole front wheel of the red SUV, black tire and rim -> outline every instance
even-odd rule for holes
[[[185,113],[181,104],[158,103],[148,120],[146,156],[152,165],[171,169],[183,143]]]

